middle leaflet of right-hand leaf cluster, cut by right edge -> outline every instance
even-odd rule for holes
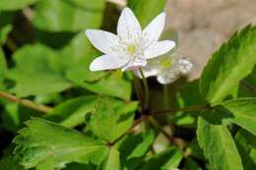
[[[256,136],[256,98],[239,98],[221,103],[227,110],[225,120]]]

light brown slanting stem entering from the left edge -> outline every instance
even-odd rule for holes
[[[48,106],[36,104],[36,103],[32,102],[31,100],[22,99],[13,94],[4,92],[4,91],[0,91],[0,97],[3,97],[11,102],[19,103],[23,106],[32,108],[33,110],[37,110],[40,112],[50,113],[52,111],[52,108],[50,108]]]

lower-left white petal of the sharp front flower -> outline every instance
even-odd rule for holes
[[[97,57],[90,65],[91,71],[102,71],[102,70],[112,70],[123,67],[129,62],[127,58],[120,58],[111,55],[102,55]]]

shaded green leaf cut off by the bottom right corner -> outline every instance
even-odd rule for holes
[[[241,155],[244,170],[256,167],[256,137],[245,130],[240,130],[235,135],[235,143]]]

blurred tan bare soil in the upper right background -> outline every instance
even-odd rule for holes
[[[256,24],[255,0],[167,0],[167,28],[178,31],[180,51],[200,77],[209,58],[240,28]]]

